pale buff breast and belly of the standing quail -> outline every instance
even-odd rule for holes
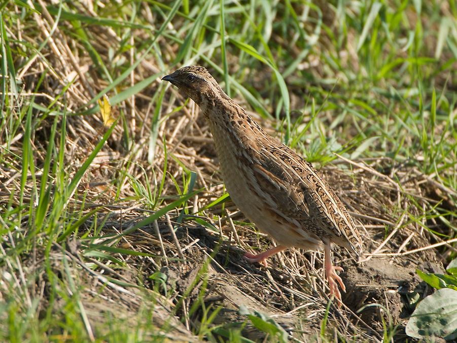
[[[282,190],[266,191],[259,185],[253,169],[258,164],[254,154],[256,135],[246,134],[242,127],[232,127],[230,121],[207,119],[224,183],[240,211],[279,244],[305,249],[319,247],[320,239],[311,237],[309,232],[276,211],[277,204],[270,194]]]

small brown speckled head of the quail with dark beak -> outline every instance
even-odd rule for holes
[[[162,78],[177,86],[185,95],[201,105],[203,97],[220,89],[216,80],[205,67],[198,65],[183,66]]]

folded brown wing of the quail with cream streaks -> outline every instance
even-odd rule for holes
[[[254,177],[273,199],[277,212],[324,242],[329,239],[359,253],[360,236],[353,220],[309,162],[279,142],[263,145],[257,153]]]

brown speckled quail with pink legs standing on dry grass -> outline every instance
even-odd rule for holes
[[[324,246],[330,294],[346,291],[332,264],[331,243],[359,255],[361,239],[346,208],[314,167],[268,135],[202,66],[185,66],[162,80],[177,86],[203,112],[213,134],[221,172],[238,208],[278,243],[261,254],[246,253],[250,262],[289,247]],[[336,267],[341,270],[342,268]]]

